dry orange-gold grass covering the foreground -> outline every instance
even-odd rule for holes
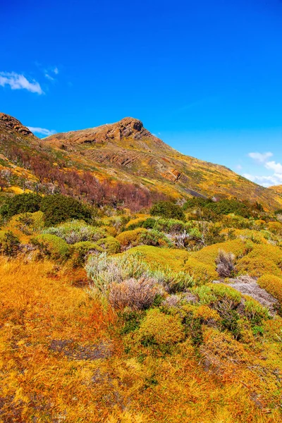
[[[279,348],[265,361],[266,346],[246,350],[208,329],[202,355],[189,338],[164,357],[137,345],[125,353],[114,312],[69,271],[4,258],[0,271],[1,423],[281,421],[276,376],[264,374],[281,367]],[[214,356],[220,372],[207,364]]]

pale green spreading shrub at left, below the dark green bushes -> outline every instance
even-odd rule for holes
[[[82,241],[98,241],[105,236],[105,231],[101,228],[87,225],[85,221],[73,220],[59,226],[51,226],[44,230],[44,233],[63,238],[68,244],[80,243]]]

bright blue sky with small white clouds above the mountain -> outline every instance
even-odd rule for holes
[[[37,135],[133,116],[180,152],[282,183],[282,1],[3,3],[0,111]]]

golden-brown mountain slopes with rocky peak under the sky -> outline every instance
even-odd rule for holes
[[[36,163],[45,161],[63,172],[87,171],[100,181],[140,185],[175,198],[237,197],[269,209],[282,205],[280,192],[252,183],[225,166],[177,152],[135,118],[39,140],[16,118],[0,114],[0,154],[1,172],[10,171],[11,182],[19,186],[23,172],[27,187],[32,187],[28,181],[35,182],[36,168],[43,166]]]

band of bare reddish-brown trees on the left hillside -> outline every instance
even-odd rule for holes
[[[113,207],[128,207],[133,211],[166,199],[159,192],[152,192],[133,183],[109,183],[108,180],[100,181],[90,171],[70,170],[63,160],[59,161],[58,166],[54,166],[51,157],[44,152],[32,154],[13,146],[6,154],[15,164],[29,168],[37,176],[39,183],[35,185],[36,192],[61,193],[97,207],[110,204]]]

